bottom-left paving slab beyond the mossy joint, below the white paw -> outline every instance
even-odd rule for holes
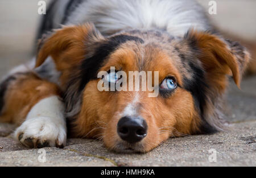
[[[114,164],[108,160],[96,158],[94,156],[84,156],[74,151],[59,148],[44,148],[42,150],[22,150],[11,152],[0,152],[0,166],[83,166],[83,167],[113,167]]]

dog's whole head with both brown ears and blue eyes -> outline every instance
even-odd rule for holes
[[[233,74],[239,85],[249,59],[239,44],[209,33],[174,38],[133,30],[104,38],[92,24],[56,31],[43,43],[36,66],[49,55],[62,72],[71,133],[101,138],[120,152],[147,152],[170,136],[220,129],[218,99],[228,84],[226,75]],[[106,74],[98,78],[101,71]],[[115,86],[122,80],[120,71],[158,72],[158,82],[154,76],[139,77],[140,90],[128,89],[134,80],[127,80],[127,91],[98,89],[102,80]],[[152,82],[158,95],[142,91],[143,82]]]

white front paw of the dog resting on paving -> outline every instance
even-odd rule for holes
[[[16,129],[15,139],[30,148],[63,148],[67,140],[67,129],[54,121],[54,118],[49,117],[28,119]]]

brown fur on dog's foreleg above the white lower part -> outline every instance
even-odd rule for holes
[[[60,91],[55,84],[32,72],[15,74],[15,77],[16,80],[7,88],[0,121],[19,126],[35,104],[49,96],[60,96]]]

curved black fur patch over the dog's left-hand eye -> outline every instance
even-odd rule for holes
[[[89,59],[85,59],[81,65],[81,84],[79,90],[83,90],[86,84],[92,80],[97,79],[97,73],[100,69],[103,61],[108,57],[112,52],[114,52],[119,45],[127,42],[135,41],[139,43],[144,43],[141,38],[128,35],[118,35],[113,36],[107,42],[103,43],[96,49],[95,54]]]

